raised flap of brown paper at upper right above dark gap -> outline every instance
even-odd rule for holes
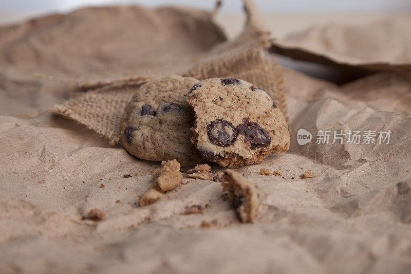
[[[275,41],[271,51],[354,76],[411,70],[410,25],[410,16],[393,16],[362,25],[312,26]]]

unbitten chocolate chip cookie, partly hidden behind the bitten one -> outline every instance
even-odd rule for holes
[[[143,84],[125,108],[120,124],[120,143],[138,158],[153,161],[177,159],[182,166],[203,159],[190,138],[194,112],[186,101],[198,80],[170,76]]]

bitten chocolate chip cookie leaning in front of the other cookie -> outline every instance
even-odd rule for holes
[[[237,168],[290,146],[282,112],[263,89],[249,82],[206,79],[190,89],[187,100],[196,115],[192,142],[209,161]]]

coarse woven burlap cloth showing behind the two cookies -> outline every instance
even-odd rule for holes
[[[268,57],[272,38],[264,31],[258,11],[250,0],[245,2],[247,24],[234,40],[217,45],[182,76],[199,80],[234,77],[265,89],[287,118],[287,97],[281,67]],[[129,77],[118,80],[80,83],[68,101],[56,104],[52,111],[97,132],[109,143],[119,141],[119,124],[125,106],[137,89],[152,77]]]

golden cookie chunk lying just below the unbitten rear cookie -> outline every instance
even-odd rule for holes
[[[178,187],[182,178],[180,163],[176,159],[162,161],[161,168],[153,174],[154,187],[161,192],[169,191]]]

